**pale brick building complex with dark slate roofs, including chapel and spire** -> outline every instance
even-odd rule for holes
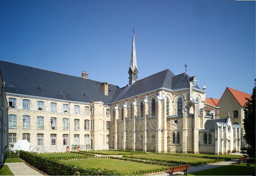
[[[139,79],[134,34],[129,81],[122,88],[88,79],[84,71],[77,77],[7,61],[0,61],[0,69],[10,148],[20,139],[39,151],[113,148],[224,154],[240,148],[240,136],[233,133],[239,125],[215,119],[212,111],[205,117],[206,86],[201,89],[196,76],[166,69]],[[223,133],[232,144],[222,142]]]

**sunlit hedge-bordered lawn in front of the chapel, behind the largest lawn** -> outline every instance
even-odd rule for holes
[[[143,159],[161,159],[161,160],[170,160],[170,161],[185,161],[185,162],[198,162],[198,161],[213,161],[213,159],[207,158],[194,158],[186,156],[170,156],[170,155],[158,155],[158,154],[149,154],[149,155],[135,155],[133,157]]]

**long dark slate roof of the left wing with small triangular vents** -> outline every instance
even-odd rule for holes
[[[119,89],[116,85],[108,84],[108,90],[111,92],[108,92],[108,95],[104,95],[100,86],[102,82],[100,81],[7,61],[0,61],[0,69],[3,81],[5,81],[5,91],[7,93],[84,103],[102,101],[107,105],[112,100],[116,90]],[[85,94],[86,97],[82,97],[82,94]]]

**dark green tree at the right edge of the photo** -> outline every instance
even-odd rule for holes
[[[244,139],[247,143],[247,150],[241,151],[241,153],[248,158],[247,165],[255,165],[255,85],[256,79],[254,79],[254,88],[252,89],[252,96],[250,99],[246,98],[244,109]]]

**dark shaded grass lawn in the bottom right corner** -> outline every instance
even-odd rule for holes
[[[189,172],[189,169],[188,169]],[[246,163],[230,164],[214,169],[207,169],[198,172],[188,173],[188,175],[253,175],[255,176],[255,166],[246,166]]]

